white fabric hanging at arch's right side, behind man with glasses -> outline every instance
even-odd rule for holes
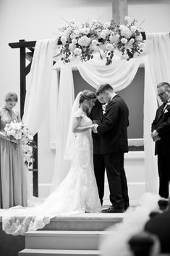
[[[145,62],[144,97],[146,190],[158,193],[157,158],[154,156],[155,143],[150,138],[150,124],[153,122],[158,107],[156,86],[163,81],[170,83],[170,36],[169,33],[149,33],[146,39],[148,56]],[[158,103],[162,104],[161,101]]]

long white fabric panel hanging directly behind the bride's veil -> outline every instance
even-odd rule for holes
[[[59,183],[63,181],[70,167],[70,162],[64,160],[69,117],[72,111],[72,104],[75,100],[72,69],[69,64],[61,65],[58,100],[59,103],[56,115],[56,157],[51,191],[54,191]]]

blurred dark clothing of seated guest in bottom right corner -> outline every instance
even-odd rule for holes
[[[170,253],[170,210],[148,220],[145,224],[145,231],[158,236],[161,242],[161,252]]]

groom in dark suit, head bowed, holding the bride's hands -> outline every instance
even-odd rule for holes
[[[106,113],[101,125],[94,132],[101,136],[103,154],[109,181],[111,207],[102,212],[124,212],[129,207],[127,178],[124,172],[124,152],[128,152],[127,126],[129,110],[127,104],[109,84],[96,91],[98,99],[106,102]]]

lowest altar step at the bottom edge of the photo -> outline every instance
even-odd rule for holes
[[[99,256],[98,250],[75,250],[75,249],[23,249],[19,256]]]

